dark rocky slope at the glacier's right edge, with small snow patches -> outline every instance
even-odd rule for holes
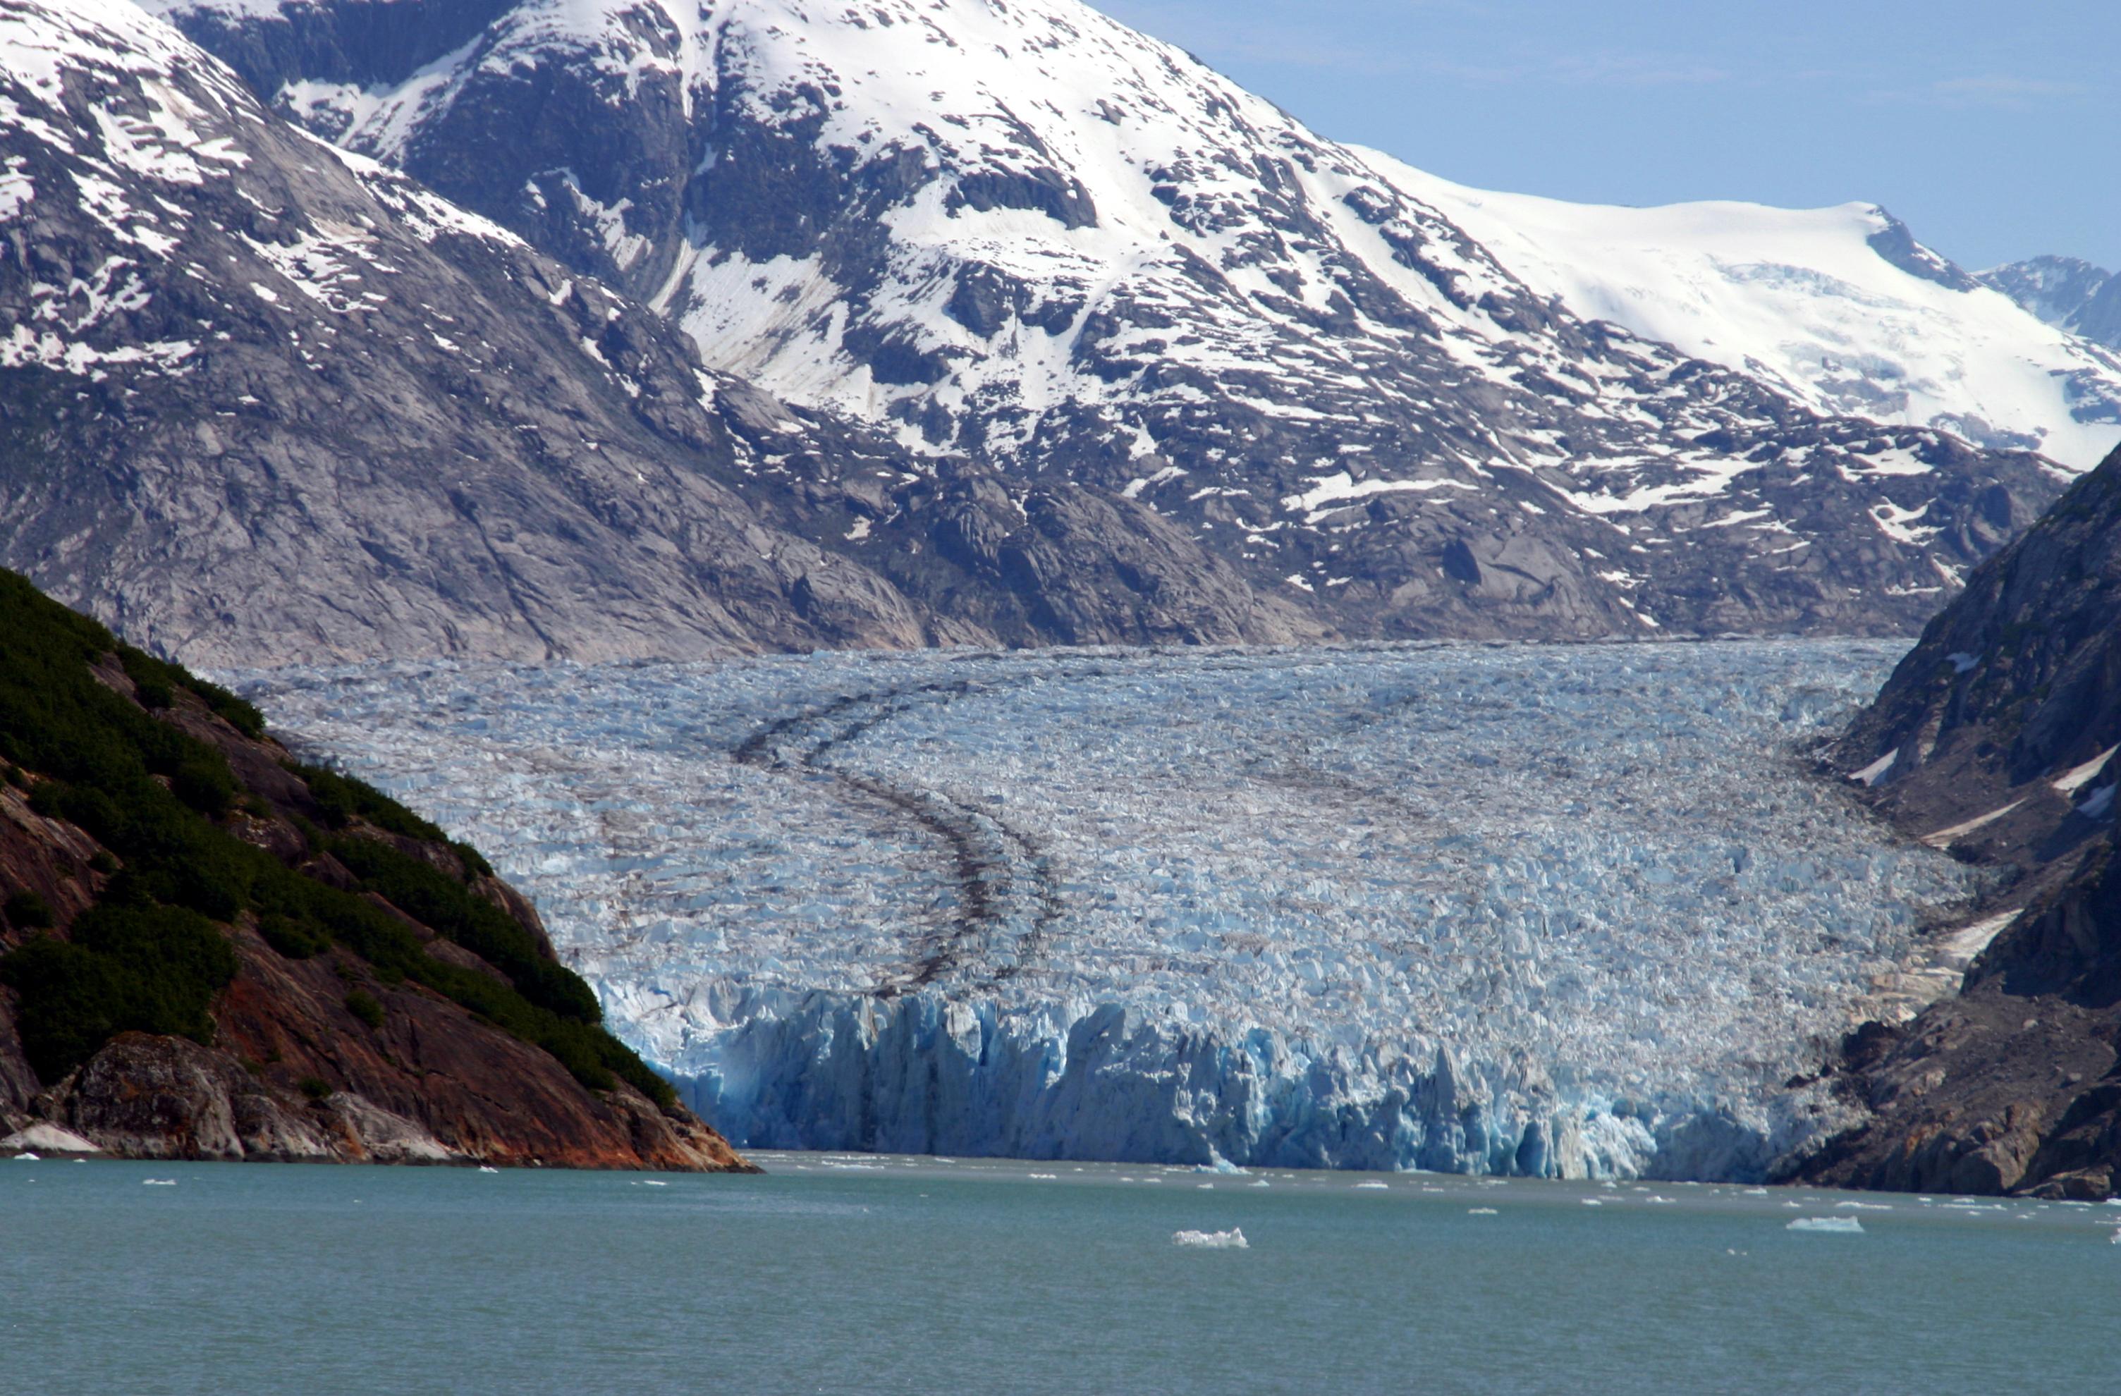
[[[1866,1129],[1820,1182],[2121,1190],[2121,452],[1968,579],[1837,751],[1879,808],[1998,870],[1960,997],[1850,1044]]]

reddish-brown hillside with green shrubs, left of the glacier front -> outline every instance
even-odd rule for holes
[[[0,573],[0,1135],[744,1169],[486,861]]]

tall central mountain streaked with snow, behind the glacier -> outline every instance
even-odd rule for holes
[[[1347,634],[1911,630],[2059,490],[1589,320],[1075,0],[155,4],[713,369],[1152,505]]]

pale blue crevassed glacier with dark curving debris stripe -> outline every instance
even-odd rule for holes
[[[1900,651],[223,679],[486,849],[742,1146],[1758,1180],[1977,891],[1805,757]]]

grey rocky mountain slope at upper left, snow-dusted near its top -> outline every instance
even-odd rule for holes
[[[1130,501],[702,371],[123,0],[0,0],[0,562],[163,653],[1321,630]]]

